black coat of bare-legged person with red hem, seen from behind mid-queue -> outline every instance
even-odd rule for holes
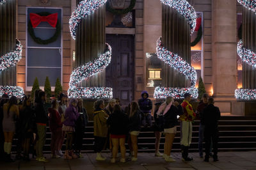
[[[110,125],[110,134],[125,135],[128,133],[129,118],[122,111],[110,114],[107,123]]]

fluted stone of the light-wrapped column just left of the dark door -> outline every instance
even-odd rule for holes
[[[77,0],[77,3],[80,1]],[[76,67],[93,61],[106,49],[105,5],[83,19],[77,27]],[[93,75],[82,83],[84,87],[105,86],[105,71]]]

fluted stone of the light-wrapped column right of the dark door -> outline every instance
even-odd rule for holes
[[[190,63],[190,26],[188,21],[179,12],[165,4],[162,5],[162,35],[164,47]],[[189,86],[189,82],[186,81],[184,75],[164,63],[163,86],[185,88]]]

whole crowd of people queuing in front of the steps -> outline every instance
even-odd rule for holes
[[[29,161],[29,153],[40,162],[48,162],[43,155],[47,125],[51,130],[51,158],[63,157],[67,160],[83,157],[81,148],[84,132],[88,123],[88,114],[81,98],[67,98],[63,93],[51,100],[51,107],[45,106],[45,92],[37,90],[35,100],[24,97],[18,103],[16,97],[3,95],[0,100],[0,158],[13,162],[11,157],[12,141],[17,139],[16,158]],[[218,120],[220,110],[214,106],[213,98],[204,94],[202,101],[193,111],[189,103],[191,95],[186,93],[181,104],[167,97],[164,102],[156,102],[152,111],[152,101],[147,91],[141,93],[138,102],[132,101],[123,110],[118,98],[111,99],[105,107],[105,101],[99,99],[93,105],[93,135],[96,160],[104,161],[102,150],[111,151],[111,163],[117,160],[120,151],[120,162],[125,162],[126,147],[129,146],[131,161],[138,160],[138,135],[142,128],[154,129],[156,136],[156,157],[163,157],[166,162],[174,162],[171,157],[172,145],[180,124],[180,148],[182,160],[191,161],[188,156],[192,138],[192,123],[200,120],[198,150],[203,157],[205,141],[205,162],[209,157],[218,161]],[[153,116],[152,116],[153,115]],[[153,123],[154,118],[154,123]],[[164,153],[160,153],[160,139],[164,134]],[[65,153],[61,149],[65,144]],[[33,146],[33,147],[31,147]],[[32,148],[32,149],[31,149]],[[211,148],[213,155],[211,154]]]

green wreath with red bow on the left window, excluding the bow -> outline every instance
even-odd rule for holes
[[[40,16],[47,16],[47,15],[51,15],[51,13],[49,12],[40,12],[40,13],[36,13]],[[48,44],[48,43],[52,43],[52,42],[55,42],[58,38],[58,36],[60,35],[61,33],[61,24],[60,24],[60,21],[58,20],[57,24],[56,24],[56,32],[54,33],[54,35],[47,39],[47,40],[42,40],[41,38],[38,38],[35,36],[35,33],[34,33],[34,29],[32,27],[32,24],[31,24],[31,21],[29,20],[28,22],[28,32],[29,32],[29,35],[31,36],[31,38],[36,42],[36,43],[39,43],[39,44]]]

